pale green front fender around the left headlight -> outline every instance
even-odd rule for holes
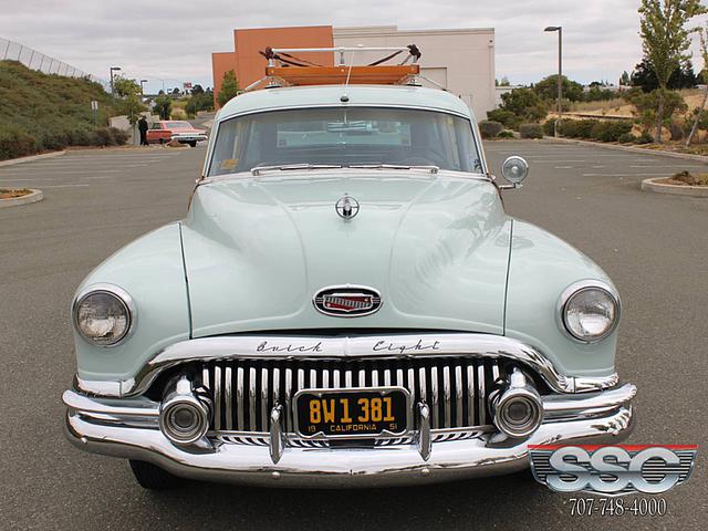
[[[137,322],[127,341],[102,347],[74,330],[79,377],[125,381],[163,347],[190,336],[180,225],[149,232],[118,250],[93,270],[77,292],[98,283],[125,290],[136,305]]]

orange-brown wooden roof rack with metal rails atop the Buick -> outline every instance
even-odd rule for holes
[[[340,61],[336,66],[322,66],[311,61],[299,59],[295,53],[337,53]],[[388,55],[367,65],[347,65],[347,52],[388,52]],[[248,86],[246,91],[272,88],[278,86],[300,85],[336,85],[336,84],[408,84],[420,85],[420,51],[415,44],[399,48],[299,48],[273,49],[267,48],[260,52],[267,60],[266,77]],[[406,53],[399,64],[383,64]],[[412,62],[412,64],[407,64]]]

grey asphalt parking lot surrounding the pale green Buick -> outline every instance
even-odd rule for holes
[[[499,169],[531,166],[511,215],[595,259],[624,303],[618,372],[639,388],[634,444],[708,440],[708,200],[643,192],[645,177],[695,162],[553,142],[487,146]],[[1,529],[705,529],[706,460],[665,494],[668,514],[572,517],[566,496],[525,475],[366,491],[191,483],[143,491],[124,461],[64,440],[61,394],[75,364],[69,308],[85,274],[123,244],[181,218],[204,147],[114,149],[0,167],[0,186],[45,200],[0,210]],[[702,523],[701,523],[702,522]]]

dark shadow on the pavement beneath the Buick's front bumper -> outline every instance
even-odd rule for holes
[[[465,482],[397,489],[263,489],[189,482],[146,492],[157,513],[181,513],[184,529],[204,522],[216,529],[464,529],[542,521],[558,514],[553,500],[530,472]],[[147,523],[147,522],[146,522]],[[516,527],[516,525],[514,525]]]

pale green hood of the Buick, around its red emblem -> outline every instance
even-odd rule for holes
[[[361,210],[340,218],[345,194]],[[183,222],[194,336],[397,329],[503,332],[511,221],[462,174],[309,171],[214,180]],[[364,285],[381,310],[323,315],[323,288]]]

